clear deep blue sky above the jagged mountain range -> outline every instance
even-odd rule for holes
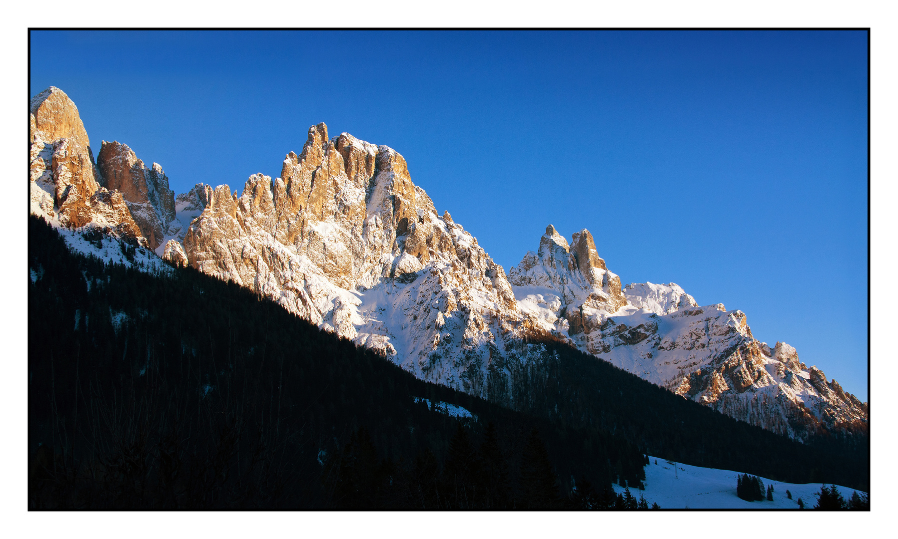
[[[31,32],[50,85],[176,193],[387,144],[506,270],[586,228],[867,399],[866,32]]]

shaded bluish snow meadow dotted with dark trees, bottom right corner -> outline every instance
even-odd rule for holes
[[[637,498],[642,494],[649,505],[655,502],[662,509],[799,509],[799,498],[804,501],[805,509],[813,509],[817,502],[814,493],[823,486],[819,482],[797,484],[761,477],[765,493],[767,485],[773,485],[773,501],[746,501],[735,494],[736,478],[742,474],[673,463],[656,456],[648,459],[651,464],[645,468],[646,490],[630,489],[630,494]],[[842,498],[850,500],[854,490],[836,486]],[[621,493],[624,488],[615,484],[614,491]],[[786,491],[791,492],[792,500],[787,498]]]

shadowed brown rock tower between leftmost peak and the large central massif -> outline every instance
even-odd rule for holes
[[[103,141],[97,164],[106,187],[121,193],[150,248],[158,248],[175,218],[174,192],[162,167],[146,167],[127,144]]]

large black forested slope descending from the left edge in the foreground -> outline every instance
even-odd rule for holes
[[[32,509],[569,507],[645,477],[620,435],[423,382],[234,283],[76,256],[33,217],[29,267]]]

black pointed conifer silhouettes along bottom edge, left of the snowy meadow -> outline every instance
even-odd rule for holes
[[[524,440],[520,440],[524,441]],[[615,494],[611,483],[600,491],[580,479],[567,493],[538,430],[523,447],[500,439],[493,423],[476,442],[459,424],[445,460],[429,450],[413,461],[379,458],[370,433],[353,433],[330,456],[324,484],[340,509],[649,509],[629,489]],[[623,481],[623,480],[621,480]],[[653,504],[658,509],[657,504]]]

